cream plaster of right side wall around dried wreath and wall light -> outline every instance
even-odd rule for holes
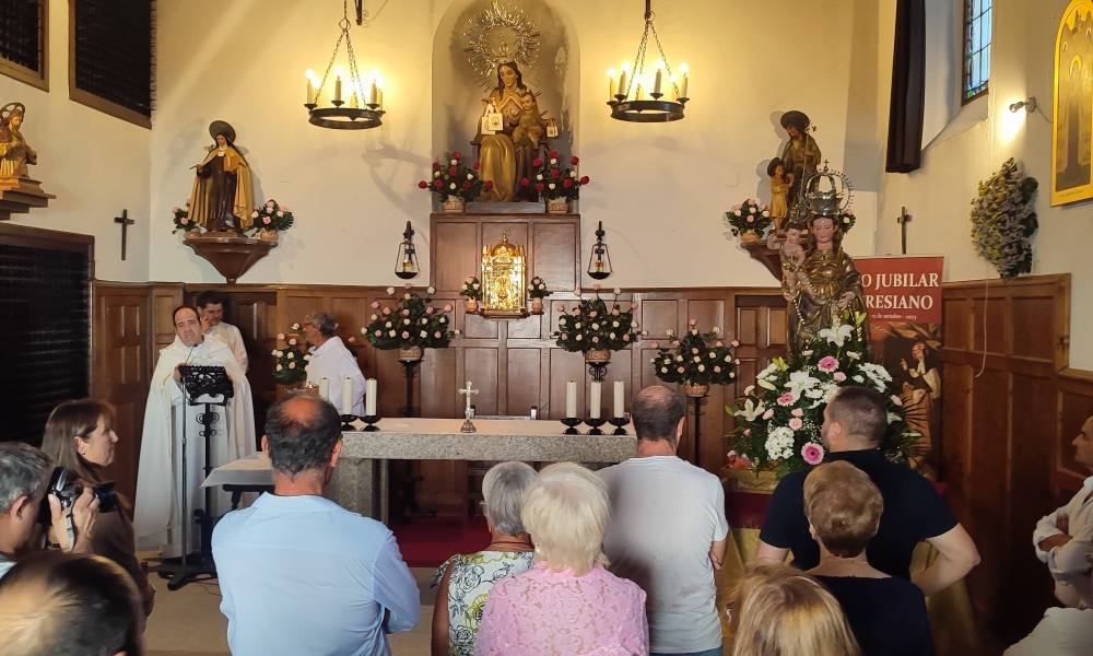
[[[907,206],[914,214],[908,229],[910,253],[943,254],[947,280],[997,279],[994,268],[972,246],[968,210],[978,180],[1008,157],[1016,157],[1041,185],[1035,200],[1039,232],[1033,243],[1033,273],[1071,273],[1070,363],[1089,370],[1093,368],[1093,267],[1089,266],[1084,235],[1093,227],[1093,206],[1085,201],[1049,207],[1053,59],[1059,19],[1067,4],[1067,0],[995,3],[990,92],[973,103],[986,104],[987,118],[935,141],[926,150],[921,169],[908,175],[884,175],[878,244],[882,253],[898,253],[895,216],[901,206]],[[878,21],[880,60],[889,62],[895,0],[880,3]],[[890,70],[889,66],[882,68]],[[882,144],[890,85],[890,74],[879,72],[878,112],[882,120],[878,142]],[[1009,112],[1010,103],[1026,96],[1035,96],[1044,114]],[[982,107],[973,105],[963,112],[982,112]]]

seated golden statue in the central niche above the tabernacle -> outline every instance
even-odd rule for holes
[[[484,190],[486,201],[524,200],[529,196],[520,184],[533,184],[540,144],[549,138],[551,121],[539,110],[536,93],[524,83],[524,73],[515,61],[497,65],[497,85],[482,98],[479,121],[479,175],[493,180]]]

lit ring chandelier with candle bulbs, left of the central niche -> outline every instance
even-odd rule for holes
[[[363,15],[361,2],[357,2],[357,25],[362,24]],[[348,0],[342,0],[342,19],[338,21],[341,35],[334,43],[334,51],[330,55],[330,62],[322,73],[322,79],[315,75],[315,71],[307,69],[307,121],[320,128],[333,130],[366,130],[378,128],[383,125],[384,112],[384,89],[383,80],[375,70],[368,79],[367,85],[361,82],[361,72],[356,68],[356,55],[353,52],[353,40],[349,36],[349,8]],[[334,66],[338,59],[338,50],[341,49],[342,42],[345,43],[345,55],[349,58],[349,101],[343,94],[343,81],[345,71],[342,67]],[[333,71],[332,97],[330,105],[322,107],[324,92],[327,89],[327,80]]]

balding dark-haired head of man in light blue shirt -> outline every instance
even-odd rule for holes
[[[341,419],[322,399],[290,396],[266,414],[266,438],[273,469],[290,478],[306,470],[322,471],[341,440]]]

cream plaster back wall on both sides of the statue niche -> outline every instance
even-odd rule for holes
[[[579,44],[575,151],[581,172],[592,178],[581,195],[583,239],[589,244],[596,222],[603,221],[616,271],[610,283],[773,284],[769,273],[726,237],[721,218],[745,197],[766,197],[762,162],[780,147],[777,119],[787,109],[804,109],[820,126],[816,139],[833,165],[843,165],[850,143],[856,150],[847,173],[875,179],[875,166],[866,171],[863,163],[879,156],[869,141],[877,122],[871,98],[881,75],[875,61],[862,61],[860,49],[875,50],[870,35],[879,23],[853,20],[856,7],[870,2],[659,2],[661,40],[673,61],[691,65],[694,96],[687,118],[666,125],[612,120],[604,104],[604,71],[634,56],[640,3],[549,3],[574,26]],[[430,70],[434,31],[454,5],[458,11],[466,2],[388,2],[371,27],[353,26],[362,68],[378,67],[386,80],[390,113],[379,129],[342,132],[308,125],[302,107],[303,71],[329,59],[340,2],[161,2],[150,277],[222,280],[168,230],[169,210],[188,197],[189,167],[210,141],[209,122],[218,118],[235,126],[261,195],[275,197],[297,216],[281,246],[245,282],[397,282],[395,246],[407,220],[419,229],[427,270],[431,203],[415,183],[434,155],[453,145],[432,143]],[[873,16],[871,11],[867,15]],[[786,30],[788,16],[802,28]],[[855,113],[848,109],[851,90],[865,98]],[[475,118],[467,118],[468,132]],[[872,245],[877,185],[867,187],[856,204],[861,232],[851,235],[861,242],[851,247],[859,254]]]

